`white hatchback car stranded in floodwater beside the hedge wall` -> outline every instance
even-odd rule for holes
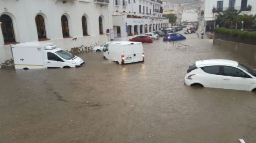
[[[231,60],[201,60],[189,67],[185,84],[256,91],[256,70]]]

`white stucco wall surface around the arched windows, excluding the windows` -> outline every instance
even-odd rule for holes
[[[101,6],[94,0],[0,0],[0,16],[6,14],[11,17],[16,42],[37,42],[37,27],[35,17],[41,14],[44,17],[46,36],[57,46],[70,50],[76,46],[91,46],[94,43],[103,44],[109,41],[107,35],[99,34],[99,16],[103,21],[103,33],[113,28],[112,13],[108,4]],[[68,18],[69,35],[72,38],[63,38],[61,16]],[[83,36],[82,16],[87,18],[88,35]],[[74,40],[73,40],[74,39]],[[4,45],[2,30],[0,28],[0,64],[11,58],[10,45]]]

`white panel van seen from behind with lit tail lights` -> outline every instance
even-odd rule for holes
[[[141,42],[112,41],[107,42],[103,49],[105,59],[127,64],[144,61],[144,51]]]

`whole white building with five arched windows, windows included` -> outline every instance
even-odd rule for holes
[[[11,59],[13,43],[54,42],[70,51],[109,41],[108,6],[109,0],[0,0],[0,64]]]

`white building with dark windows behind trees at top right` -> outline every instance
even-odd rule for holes
[[[251,5],[251,10],[248,6]],[[205,20],[204,29],[206,31],[213,31],[215,15],[218,13],[212,13],[212,9],[215,7],[216,11],[224,11],[229,7],[234,7],[236,10],[241,10],[242,14],[255,15],[256,14],[256,0],[204,0],[204,15]],[[211,29],[211,30],[210,30]]]

